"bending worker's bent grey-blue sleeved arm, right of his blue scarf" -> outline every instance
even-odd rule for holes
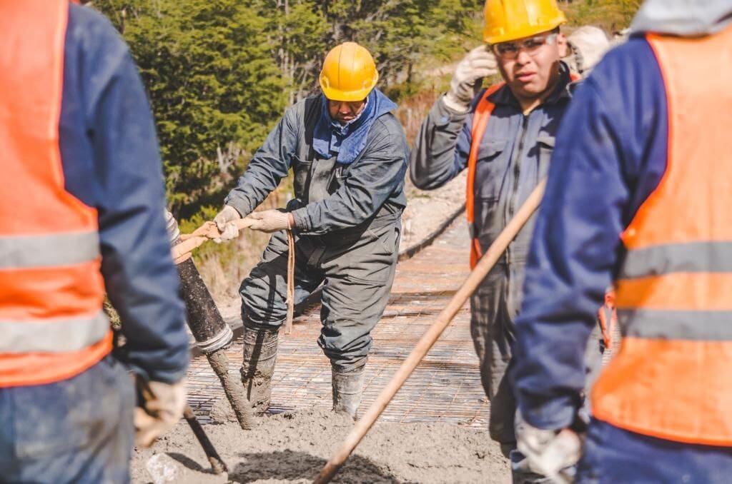
[[[354,227],[375,215],[404,183],[408,153],[398,121],[390,118],[384,134],[373,136],[365,151],[366,154],[348,170],[348,177],[334,194],[292,212],[296,228],[323,234]]]

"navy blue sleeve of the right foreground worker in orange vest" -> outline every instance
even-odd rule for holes
[[[556,138],[517,319],[511,377],[524,420],[564,428],[581,404],[584,353],[621,252],[629,190],[613,127],[590,78]]]

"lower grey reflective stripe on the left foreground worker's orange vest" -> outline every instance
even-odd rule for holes
[[[109,330],[104,311],[87,318],[0,320],[0,354],[79,351],[101,341]]]

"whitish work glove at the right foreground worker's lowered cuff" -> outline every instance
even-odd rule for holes
[[[582,456],[582,439],[569,428],[561,431],[542,430],[526,423],[516,415],[516,447],[529,461],[529,469],[563,482],[562,469],[574,466]]]

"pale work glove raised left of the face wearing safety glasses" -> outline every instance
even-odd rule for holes
[[[452,75],[450,90],[445,94],[444,103],[458,113],[465,113],[475,97],[478,80],[498,73],[496,56],[487,45],[474,48],[460,61]]]

